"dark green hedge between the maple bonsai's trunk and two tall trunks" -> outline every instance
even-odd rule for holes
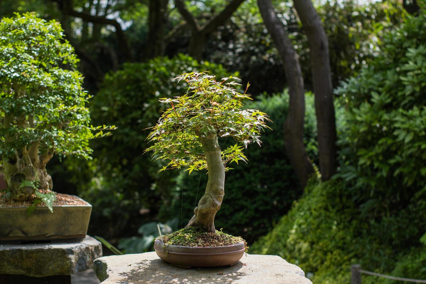
[[[216,214],[215,226],[232,235],[241,235],[250,245],[259,236],[265,235],[290,209],[293,201],[302,195],[302,189],[288,161],[283,140],[288,93],[261,95],[248,102],[246,107],[268,113],[273,121],[270,125],[273,130],[267,129],[262,134],[262,147],[249,145],[245,149],[248,164],[234,164],[233,170],[226,173],[225,197]],[[314,161],[318,157],[316,129],[314,98],[311,93],[307,93],[304,141],[308,155]],[[230,138],[222,139],[219,143],[226,147],[235,142]],[[193,216],[195,204],[204,194],[206,183],[205,172],[193,172],[191,175],[181,173],[173,191],[173,202],[171,206],[167,204],[162,207],[160,219],[176,215],[179,217],[179,225],[186,226]]]

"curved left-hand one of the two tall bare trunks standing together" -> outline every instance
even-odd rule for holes
[[[257,2],[265,26],[273,38],[282,61],[284,61],[285,77],[288,81],[288,94],[290,95],[288,115],[284,124],[284,142],[290,163],[301,186],[305,187],[309,175],[314,172],[314,167],[303,143],[305,87],[299,58],[296,50],[294,50],[293,43],[288,38],[288,33],[284,30],[282,22],[273,10],[271,0],[258,0]]]

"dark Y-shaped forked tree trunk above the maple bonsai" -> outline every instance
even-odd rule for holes
[[[200,60],[209,35],[212,32],[215,32],[219,26],[223,25],[244,1],[245,0],[229,1],[225,9],[211,17],[211,19],[201,27],[199,26],[196,18],[186,9],[185,3],[182,0],[175,0],[176,8],[187,22],[187,25],[190,27],[192,32],[188,47],[188,54],[195,59]]]

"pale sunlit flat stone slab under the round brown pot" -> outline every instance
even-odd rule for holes
[[[247,255],[229,267],[179,268],[155,252],[105,256],[95,260],[95,273],[108,283],[268,283],[312,284],[305,273],[277,255]]]

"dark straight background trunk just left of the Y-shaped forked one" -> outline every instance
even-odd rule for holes
[[[167,0],[150,0],[148,16],[148,41],[144,59],[164,55]]]

